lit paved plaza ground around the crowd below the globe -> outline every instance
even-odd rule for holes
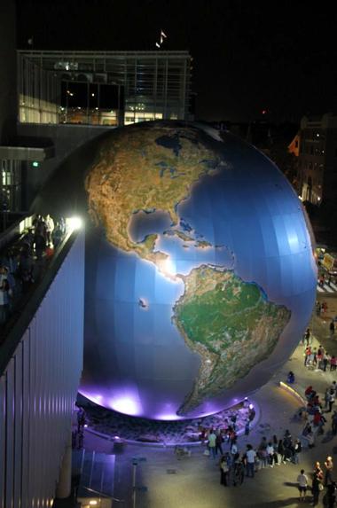
[[[336,301],[329,299],[326,315],[313,317],[310,323],[315,333],[313,346],[318,347],[322,343],[331,354],[337,351],[337,335],[331,339],[328,330],[335,307]],[[269,439],[273,434],[277,434],[278,439],[281,439],[286,429],[290,430],[294,439],[302,434],[303,423],[294,418],[302,403],[296,396],[280,387],[279,382],[286,381],[288,371],[294,371],[294,389],[298,393],[304,394],[305,388],[312,385],[323,399],[325,388],[336,378],[335,372],[304,367],[303,350],[303,345],[299,344],[288,362],[252,397],[252,402],[260,408],[260,416],[251,434],[239,437],[239,451],[246,450],[247,442],[257,446],[264,435]],[[205,448],[201,445],[191,448],[191,457],[178,460],[172,448],[126,444],[121,452],[116,454],[114,496],[120,501],[115,501],[114,506],[278,508],[302,505],[296,487],[300,470],[303,468],[311,479],[315,461],[319,460],[323,465],[327,455],[332,455],[337,461],[336,438],[330,432],[331,414],[325,415],[325,434],[317,437],[315,448],[302,450],[300,465],[287,463],[274,468],[264,468],[255,474],[254,480],[245,478],[240,487],[225,488],[220,484],[218,460],[204,456]],[[85,433],[84,447],[97,453],[114,453],[112,442],[89,432]],[[229,445],[225,445],[224,448],[227,450],[228,447]],[[146,459],[137,465],[136,500],[132,499],[131,488],[133,457]],[[335,475],[337,478],[337,470]],[[146,491],[142,487],[146,487]],[[318,506],[323,505],[323,496],[324,492],[320,495]],[[306,504],[310,504],[310,497]]]

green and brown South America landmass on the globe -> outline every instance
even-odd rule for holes
[[[243,282],[231,270],[203,265],[179,277],[185,289],[173,319],[201,361],[192,392],[177,410],[185,415],[267,358],[291,313],[267,301],[258,285]]]

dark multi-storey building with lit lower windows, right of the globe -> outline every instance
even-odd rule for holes
[[[301,121],[298,191],[314,205],[337,197],[337,116],[304,116]]]

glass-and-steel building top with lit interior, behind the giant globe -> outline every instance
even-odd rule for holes
[[[18,51],[19,120],[187,120],[191,60],[188,51]]]

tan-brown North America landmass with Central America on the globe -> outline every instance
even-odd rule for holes
[[[159,145],[166,133],[172,148]],[[129,236],[132,215],[164,211],[172,225],[178,223],[176,207],[190,195],[193,184],[201,176],[214,175],[220,160],[200,143],[192,128],[133,129],[116,137],[114,145],[103,144],[98,161],[85,180],[90,215],[102,223],[106,238],[125,252],[134,252],[153,262],[167,277],[168,254],[155,251],[157,234],[147,235],[142,242]],[[205,245],[200,245],[205,247]]]

